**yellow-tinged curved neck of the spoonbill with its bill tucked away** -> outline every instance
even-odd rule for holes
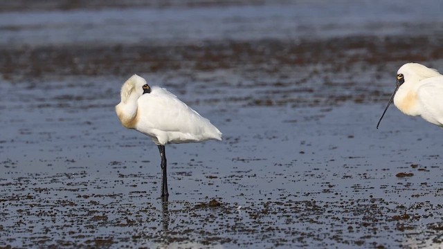
[[[137,123],[138,97],[136,94],[129,95],[116,106],[118,119],[128,129],[134,129]]]

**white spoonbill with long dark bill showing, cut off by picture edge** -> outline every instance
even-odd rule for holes
[[[406,115],[422,116],[431,124],[443,127],[443,75],[418,63],[406,63],[397,71],[397,84],[377,129],[390,103]]]

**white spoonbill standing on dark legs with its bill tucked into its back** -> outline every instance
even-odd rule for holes
[[[132,75],[121,92],[116,106],[118,119],[124,127],[150,136],[161,156],[161,196],[168,198],[165,144],[221,140],[217,127],[190,109],[177,96],[159,86],[146,83],[143,77]]]

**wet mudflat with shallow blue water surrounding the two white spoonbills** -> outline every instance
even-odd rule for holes
[[[323,2],[126,6],[129,21],[116,6],[8,7],[0,246],[442,247],[442,130],[394,107],[375,127],[401,64],[443,69],[443,19],[378,4],[345,21]],[[298,22],[307,10],[323,18]],[[133,73],[224,133],[166,147],[167,203],[156,146],[114,113]]]

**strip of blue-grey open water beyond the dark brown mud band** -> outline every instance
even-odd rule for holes
[[[47,7],[37,4],[35,11],[1,13],[0,44],[198,44],[226,39],[410,35],[411,30],[414,35],[441,37],[442,32],[443,6],[435,0],[421,1],[420,8],[408,8],[405,0],[231,3],[197,3],[191,8],[84,6],[70,11],[45,11]],[[7,5],[3,3],[3,8],[8,9]]]

